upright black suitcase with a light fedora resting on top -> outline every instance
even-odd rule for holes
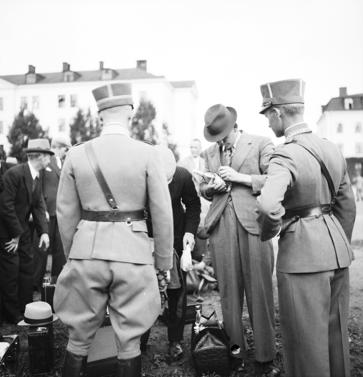
[[[45,326],[30,326],[28,347],[31,374],[51,372],[54,356],[53,323]]]

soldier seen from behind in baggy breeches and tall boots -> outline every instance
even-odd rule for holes
[[[158,279],[146,227],[154,221],[157,270],[172,267],[172,208],[162,159],[129,137],[131,84],[92,91],[101,136],[72,147],[62,167],[57,219],[66,259],[54,294],[69,328],[63,377],[82,375],[108,306],[118,350],[117,377],[141,377],[140,336],[160,311]]]

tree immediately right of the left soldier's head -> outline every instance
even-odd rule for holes
[[[131,125],[131,137],[158,144],[158,134],[152,121],[155,119],[156,110],[150,101],[140,101]]]

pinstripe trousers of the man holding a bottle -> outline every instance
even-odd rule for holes
[[[276,347],[272,242],[261,242],[258,235],[250,234],[242,227],[230,198],[220,220],[210,233],[209,247],[217,274],[229,346],[238,345],[241,348],[239,354],[231,355],[243,358],[248,351],[242,323],[246,293],[254,334],[255,360],[273,360]]]

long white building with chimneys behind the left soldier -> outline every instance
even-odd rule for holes
[[[138,60],[130,69],[100,67],[94,71],[75,72],[63,63],[62,72],[38,74],[29,65],[23,75],[0,76],[0,148],[8,150],[6,138],[14,116],[21,108],[33,112],[49,136],[58,132],[69,134],[70,124],[78,109],[97,112],[92,89],[107,83],[132,84],[134,108],[140,99],[149,100],[156,109],[154,121],[159,136],[162,124],[167,123],[180,155],[188,155],[189,144],[195,137],[196,101],[195,81],[167,81],[164,76],[147,72],[146,60]]]

